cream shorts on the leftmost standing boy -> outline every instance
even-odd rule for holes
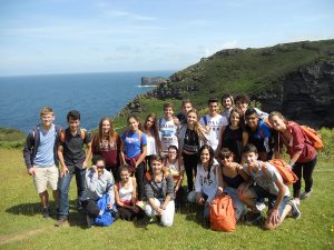
[[[48,187],[52,190],[57,190],[59,170],[55,164],[51,167],[33,166],[33,183],[38,193],[46,191]]]

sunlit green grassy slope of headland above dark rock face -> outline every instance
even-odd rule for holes
[[[262,49],[219,51],[170,77],[170,88],[184,91],[184,98],[203,108],[208,97],[223,93],[261,93],[275,89],[278,79],[317,60],[333,60],[334,40],[303,41]]]

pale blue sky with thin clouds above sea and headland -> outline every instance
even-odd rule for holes
[[[333,0],[1,0],[0,76],[178,71],[222,49],[333,38]]]

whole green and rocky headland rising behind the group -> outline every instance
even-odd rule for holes
[[[188,98],[202,109],[209,97],[227,92],[247,93],[264,111],[281,111],[299,123],[333,128],[334,40],[218,51],[135,98],[120,114],[148,112],[141,102],[156,99]]]

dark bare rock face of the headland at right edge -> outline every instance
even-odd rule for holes
[[[253,97],[263,110],[315,128],[334,127],[334,61],[322,61],[288,73],[276,88]]]

